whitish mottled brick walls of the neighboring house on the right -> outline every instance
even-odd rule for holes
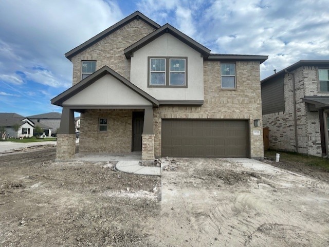
[[[302,101],[305,96],[327,96],[318,92],[317,68],[302,66],[292,71],[295,74],[296,119],[295,131],[293,77],[284,75],[284,104],[282,112],[263,116],[263,126],[269,127],[270,149],[297,151],[295,136],[298,138],[298,152],[321,156],[319,113],[309,112]]]

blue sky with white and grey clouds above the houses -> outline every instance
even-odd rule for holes
[[[31,116],[72,85],[64,53],[136,10],[212,53],[268,55],[261,79],[329,60],[329,0],[0,0],[0,112]]]

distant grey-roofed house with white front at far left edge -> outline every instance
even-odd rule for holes
[[[18,131],[15,131],[14,125],[18,125]],[[19,137],[32,137],[33,136],[33,123],[31,120],[23,116],[12,113],[0,113],[0,127],[4,127],[6,137],[19,138]],[[1,131],[1,130],[0,130]],[[4,133],[1,133],[0,139]]]

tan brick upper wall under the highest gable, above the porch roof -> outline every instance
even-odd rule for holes
[[[107,65],[130,80],[130,60],[126,59],[123,50],[154,30],[142,20],[134,20],[74,56],[71,59],[73,85],[81,81],[81,61],[83,60],[96,60],[96,70]]]

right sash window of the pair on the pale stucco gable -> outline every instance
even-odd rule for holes
[[[185,59],[170,59],[169,85],[185,85]]]

